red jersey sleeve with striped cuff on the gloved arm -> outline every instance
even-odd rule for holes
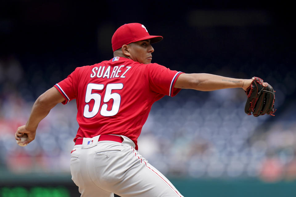
[[[179,93],[181,89],[174,88],[174,86],[177,78],[183,72],[170,70],[156,63],[149,64],[147,69],[149,73],[149,86],[152,91],[172,97]]]

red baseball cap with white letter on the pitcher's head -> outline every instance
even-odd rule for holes
[[[140,23],[128,23],[120,26],[112,36],[113,52],[132,42],[150,39],[150,44],[162,40],[162,36],[150,36],[146,27]]]

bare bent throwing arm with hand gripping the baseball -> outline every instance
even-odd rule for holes
[[[25,141],[24,144],[34,140],[39,122],[47,116],[49,111],[55,107],[56,104],[61,103],[64,100],[64,97],[55,87],[52,87],[41,94],[32,107],[31,115],[26,125],[19,127],[16,131],[15,139],[20,140],[19,137],[23,136],[24,133],[27,133],[28,140]]]

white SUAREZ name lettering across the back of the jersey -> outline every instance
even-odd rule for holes
[[[124,68],[126,68],[124,70]],[[105,66],[100,66],[100,67],[94,67],[92,69],[92,73],[90,74],[91,78],[94,78],[97,76],[97,78],[107,78],[111,79],[114,77],[120,77],[120,78],[125,78],[125,73],[127,73],[128,70],[130,70],[131,66],[126,66],[121,65],[121,66],[114,66],[112,72],[111,72],[111,66],[108,66],[107,69],[105,70]],[[122,73],[123,72],[123,73]],[[111,73],[111,74],[110,74]],[[121,74],[122,73],[122,74]]]

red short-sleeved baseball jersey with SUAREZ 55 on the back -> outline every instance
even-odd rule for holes
[[[141,64],[114,57],[92,66],[77,67],[55,88],[65,98],[76,98],[77,138],[97,135],[124,135],[134,141],[148,118],[152,104],[165,95],[175,96],[174,88],[182,72],[156,63]]]

